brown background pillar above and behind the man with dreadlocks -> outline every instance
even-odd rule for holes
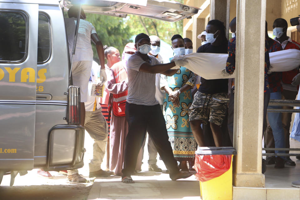
[[[230,0],[210,1],[210,20],[217,19],[224,23],[227,39],[229,37],[229,10]]]

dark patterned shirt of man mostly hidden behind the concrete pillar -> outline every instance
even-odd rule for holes
[[[233,74],[235,70],[235,51],[236,51],[236,37],[228,41],[228,58],[226,62],[226,72]],[[270,57],[268,51],[268,42],[265,40],[265,73],[264,73],[264,93],[269,93],[268,74],[270,68]]]

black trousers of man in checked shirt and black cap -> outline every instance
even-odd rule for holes
[[[125,140],[122,178],[130,176],[134,172],[146,132],[169,170],[170,177],[178,173],[179,169],[169,142],[166,121],[160,105],[144,106],[126,102],[125,114],[128,122],[128,134]]]

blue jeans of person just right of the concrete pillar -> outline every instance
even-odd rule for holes
[[[270,99],[281,99],[281,92],[270,93]],[[270,108],[282,108],[281,106],[268,106]],[[284,143],[284,132],[282,128],[282,118],[281,113],[271,113],[268,112],[268,120],[269,124],[272,128],[273,137],[275,141],[275,148],[285,148]],[[275,151],[275,153],[285,153],[285,151]],[[282,157],[286,159],[285,157]]]

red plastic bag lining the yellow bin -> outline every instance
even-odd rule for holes
[[[209,181],[227,172],[231,165],[232,155],[196,155],[196,178],[201,182]]]

